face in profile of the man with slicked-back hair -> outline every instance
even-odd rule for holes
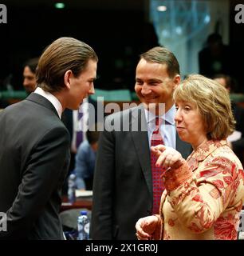
[[[65,85],[68,90],[66,107],[71,110],[79,109],[84,98],[88,98],[90,94],[94,94],[93,82],[96,79],[96,62],[89,60],[85,70],[76,78],[71,70],[65,74]]]

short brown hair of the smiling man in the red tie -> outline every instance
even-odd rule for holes
[[[147,62],[156,62],[167,65],[167,73],[170,78],[174,78],[179,73],[179,62],[175,55],[164,47],[156,46],[144,54],[140,54],[140,59],[144,58]]]

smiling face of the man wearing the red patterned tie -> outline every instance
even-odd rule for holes
[[[142,58],[136,67],[135,90],[146,108],[150,103],[155,103],[155,106],[165,103],[167,112],[174,104],[172,94],[179,82],[179,75],[169,77],[166,64],[147,62]]]

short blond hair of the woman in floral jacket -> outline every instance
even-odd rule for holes
[[[234,117],[227,90],[212,79],[191,74],[173,94],[175,102],[195,103],[203,118],[208,139],[225,139],[234,131]]]

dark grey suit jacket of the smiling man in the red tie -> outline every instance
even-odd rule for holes
[[[123,120],[128,131],[116,131]],[[140,131],[132,131],[138,123]],[[136,239],[136,222],[151,214],[153,202],[144,109],[109,115],[104,125],[107,130],[100,134],[93,181],[92,238]],[[191,152],[191,146],[178,137],[176,148],[185,158]]]

